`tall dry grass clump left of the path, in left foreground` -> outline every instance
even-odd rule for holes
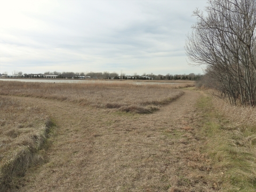
[[[29,164],[42,160],[35,152],[43,145],[51,120],[43,109],[22,106],[9,97],[0,97],[0,108],[0,191],[5,191]]]

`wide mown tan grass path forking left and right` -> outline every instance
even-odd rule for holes
[[[17,191],[214,191],[199,153],[201,95],[185,91],[147,115],[20,98],[45,108],[57,128],[45,163],[30,167]]]

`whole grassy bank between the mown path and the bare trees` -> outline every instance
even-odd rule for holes
[[[213,104],[214,103],[214,104]],[[220,191],[256,189],[256,110],[230,106],[210,96],[202,97],[201,153],[206,154],[209,179]]]

